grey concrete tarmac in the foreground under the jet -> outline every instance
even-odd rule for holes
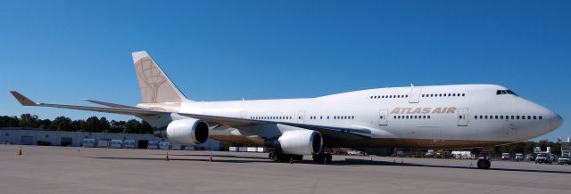
[[[0,193],[569,193],[571,166],[334,156],[273,163],[265,153],[0,145]],[[371,161],[372,159],[372,161]],[[394,160],[394,163],[393,163]]]

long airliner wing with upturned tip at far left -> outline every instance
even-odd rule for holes
[[[20,101],[22,106],[53,107],[61,109],[80,109],[88,111],[131,115],[137,117],[160,116],[164,114],[170,115],[171,113],[177,113],[178,115],[184,117],[194,117],[209,123],[216,123],[218,125],[228,125],[232,127],[239,127],[246,125],[268,125],[268,124],[291,125],[304,129],[315,130],[318,131],[319,133],[322,133],[324,137],[331,137],[340,140],[363,139],[371,136],[371,131],[369,129],[367,129],[366,127],[359,127],[359,126],[342,127],[342,126],[327,126],[327,125],[310,125],[310,124],[299,124],[299,123],[289,123],[289,122],[253,120],[253,119],[238,118],[238,117],[219,117],[219,116],[211,116],[203,114],[167,112],[167,111],[159,111],[151,109],[139,109],[135,107],[128,107],[124,105],[112,104],[101,101],[90,101],[90,102],[94,102],[96,104],[101,104],[103,106],[108,106],[108,107],[87,107],[87,106],[76,106],[76,105],[65,105],[65,104],[37,103],[35,101],[29,100],[29,98],[16,91],[11,91],[10,93],[12,93],[12,95],[16,98],[16,100]]]

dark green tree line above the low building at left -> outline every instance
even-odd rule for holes
[[[95,133],[139,133],[152,134],[153,127],[145,121],[131,119],[128,121],[107,120],[106,117],[88,117],[72,120],[70,117],[55,117],[54,120],[41,119],[37,115],[21,114],[0,117],[0,127],[27,127],[65,132]]]

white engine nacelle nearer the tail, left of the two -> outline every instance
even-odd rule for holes
[[[170,122],[165,132],[162,132],[161,136],[166,136],[170,142],[183,145],[198,145],[207,141],[209,137],[208,124],[194,118],[174,120]]]

